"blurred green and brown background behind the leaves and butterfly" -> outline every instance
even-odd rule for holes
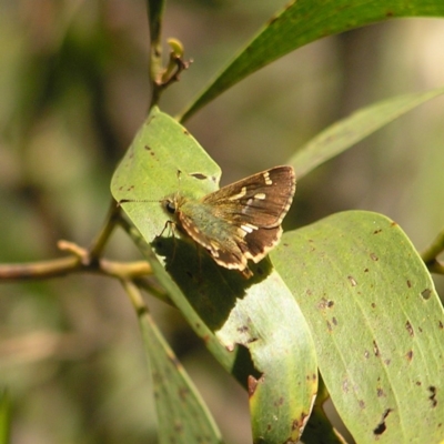
[[[164,38],[192,58],[161,108],[178,113],[284,1],[169,1]],[[149,107],[142,0],[0,2],[0,262],[88,246],[113,169]],[[443,85],[444,20],[366,27],[302,48],[235,85],[188,123],[223,183],[281,164],[319,131],[385,98]],[[287,228],[365,209],[421,251],[444,226],[444,100],[435,99],[299,182]],[[122,232],[107,256],[140,259]],[[443,280],[436,279],[441,294]],[[180,313],[147,296],[229,443],[251,442],[248,397]],[[140,332],[120,285],[70,275],[0,284],[0,389],[12,442],[155,443]]]

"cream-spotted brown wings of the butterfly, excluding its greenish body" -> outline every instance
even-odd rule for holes
[[[275,167],[205,195],[201,204],[218,225],[204,245],[214,261],[250,276],[246,260],[258,263],[276,245],[295,186],[293,168]]]

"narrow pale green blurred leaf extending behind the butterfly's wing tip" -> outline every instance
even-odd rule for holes
[[[290,160],[301,179],[329,159],[420,104],[444,93],[444,88],[395,97],[363,108],[329,127],[303,145]]]

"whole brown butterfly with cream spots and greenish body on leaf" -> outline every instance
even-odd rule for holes
[[[248,261],[258,263],[278,244],[294,191],[293,169],[275,167],[200,200],[176,193],[163,202],[180,230],[219,265],[251,278]]]

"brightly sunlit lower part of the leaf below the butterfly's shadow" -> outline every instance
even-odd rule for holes
[[[297,442],[317,392],[305,320],[278,273],[245,290],[218,337],[246,346],[260,372],[249,380],[254,442]]]

